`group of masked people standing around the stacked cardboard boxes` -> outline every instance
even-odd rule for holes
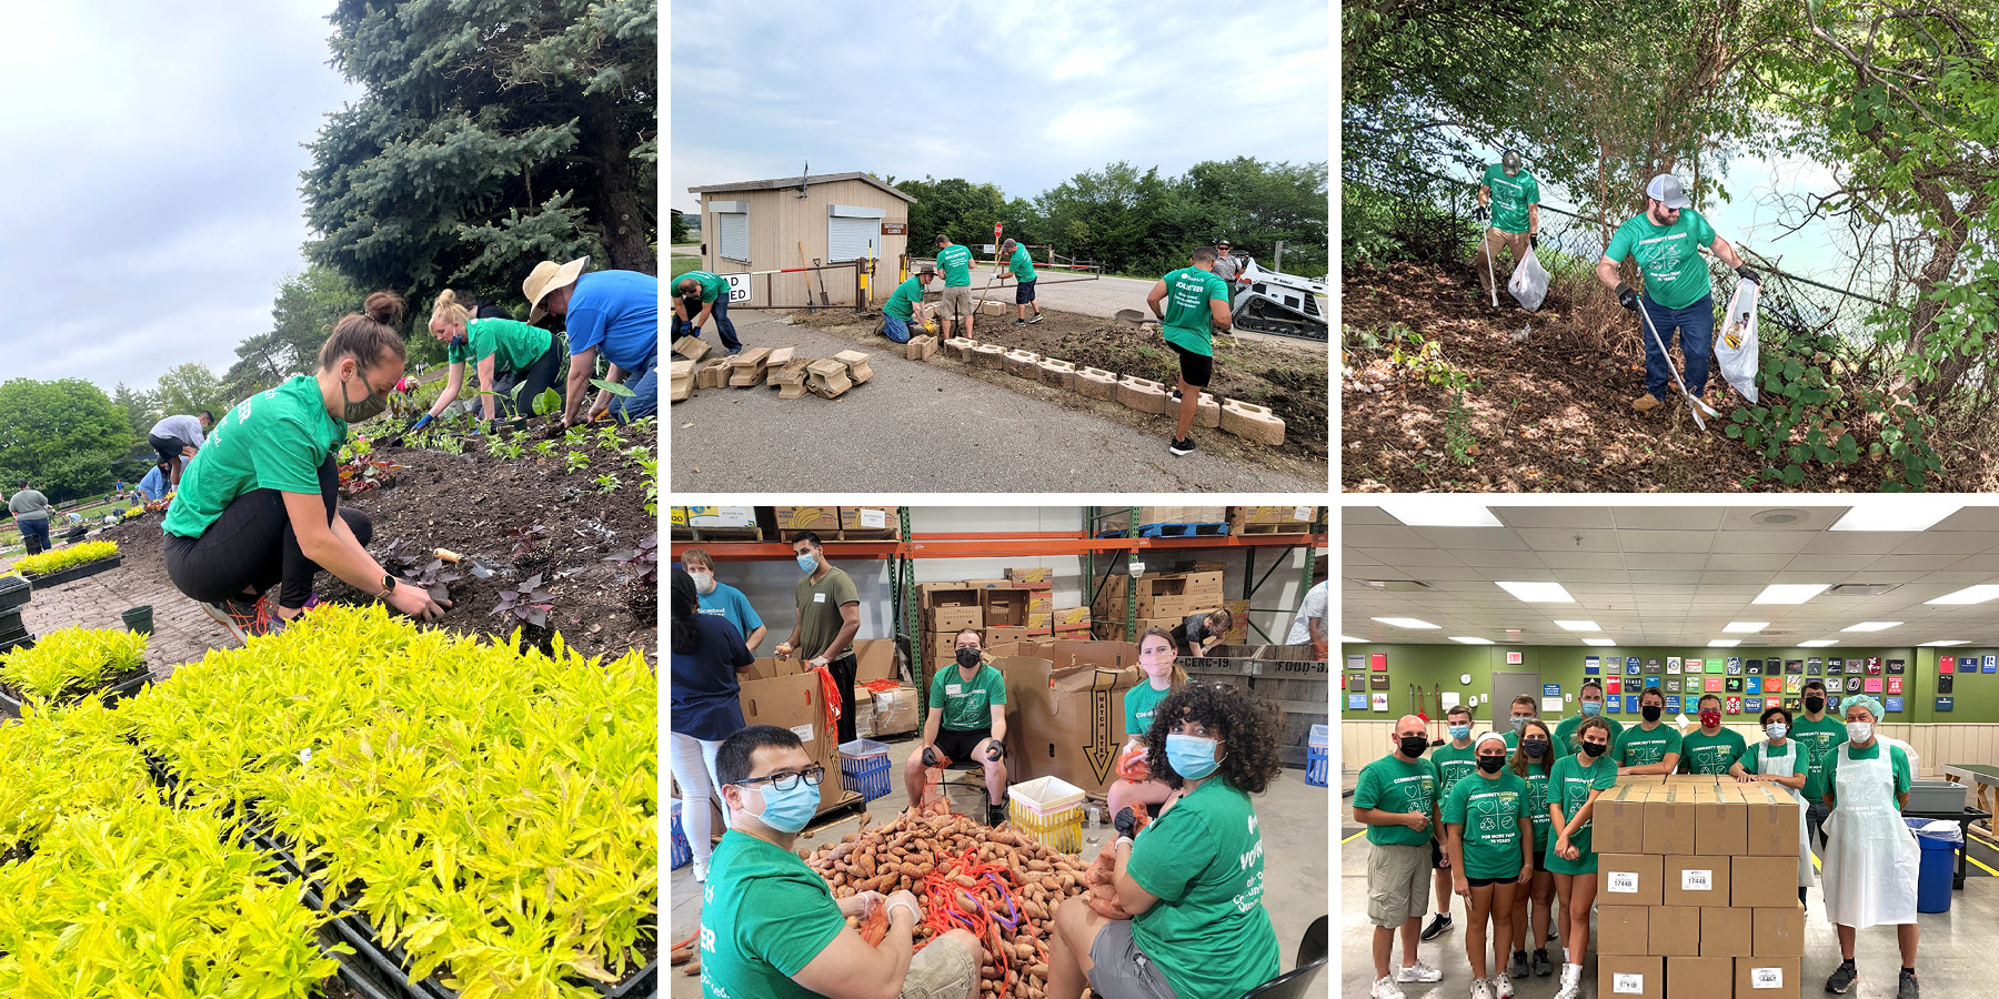
[[[1557,937],[1561,989],[1555,997],[1581,995],[1597,901],[1597,855],[1589,841],[1595,799],[1619,779],[1665,773],[1763,781],[1797,799],[1797,899],[1807,901],[1807,887],[1819,881],[1811,865],[1815,843],[1825,913],[1837,927],[1843,957],[1825,989],[1845,993],[1853,987],[1857,929],[1895,925],[1901,945],[1897,999],[1919,995],[1917,845],[1901,821],[1911,783],[1909,751],[1875,733],[1877,699],[1847,697],[1841,721],[1825,711],[1825,683],[1809,679],[1803,717],[1781,705],[1763,709],[1757,721],[1765,737],[1755,743],[1721,727],[1721,699],[1711,693],[1695,701],[1699,723],[1687,731],[1663,721],[1659,687],[1639,695],[1641,721],[1633,725],[1603,717],[1603,685],[1595,679],[1583,683],[1577,703],[1579,711],[1549,731],[1535,699],[1515,697],[1509,731],[1477,737],[1471,711],[1451,707],[1445,713],[1449,739],[1435,751],[1425,719],[1405,715],[1395,723],[1389,755],[1361,769],[1353,821],[1367,827],[1371,851],[1373,999],[1399,999],[1403,983],[1443,979],[1443,971],[1417,957],[1417,945],[1451,929],[1451,895],[1465,899],[1469,913],[1465,957],[1473,999],[1507,999],[1513,979],[1551,975],[1549,947]],[[1437,905],[1425,927],[1431,881]],[[1401,965],[1389,967],[1397,931]]]

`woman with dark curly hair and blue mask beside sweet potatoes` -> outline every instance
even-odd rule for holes
[[[1129,809],[1113,819],[1113,887],[1131,919],[1097,915],[1083,897],[1063,901],[1049,999],[1079,997],[1085,979],[1105,999],[1213,999],[1277,977],[1249,803],[1283,769],[1277,715],[1249,691],[1189,683],[1159,701],[1145,745],[1151,773],[1177,793],[1143,829]]]

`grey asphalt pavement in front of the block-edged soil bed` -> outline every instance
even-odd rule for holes
[[[800,356],[816,358],[868,350],[874,380],[838,400],[780,400],[776,390],[758,386],[700,390],[674,404],[668,414],[674,494],[1325,494],[1329,488],[1325,478],[1199,450],[1173,458],[1165,450],[1171,436],[1165,418],[1149,418],[1139,430],[982,382],[956,364],[908,362],[888,340],[856,348],[844,336],[756,312],[730,318],[748,346],[796,346]],[[1199,444],[1221,432],[1193,436]]]

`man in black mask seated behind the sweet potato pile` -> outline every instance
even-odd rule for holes
[[[930,681],[930,715],[924,745],[902,767],[902,785],[912,803],[924,801],[930,767],[974,761],[986,767],[986,825],[1005,821],[1005,677],[986,661],[980,633],[958,633],[956,667],[938,669]]]

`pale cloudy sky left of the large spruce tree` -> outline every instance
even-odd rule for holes
[[[208,14],[196,14],[206,10]],[[152,388],[270,330],[304,270],[298,174],[332,0],[12,4],[0,60],[0,378]]]

